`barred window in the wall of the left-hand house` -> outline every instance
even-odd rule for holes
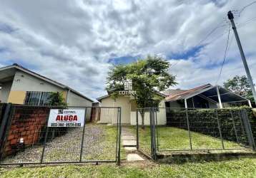
[[[24,105],[47,105],[51,92],[27,91]]]

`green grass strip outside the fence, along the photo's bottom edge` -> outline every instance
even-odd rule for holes
[[[256,159],[186,164],[66,165],[0,169],[0,177],[256,177]]]

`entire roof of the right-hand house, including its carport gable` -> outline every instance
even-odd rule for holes
[[[232,103],[232,102],[242,102],[248,101],[246,98],[237,95],[230,90],[222,88],[220,85],[211,85],[210,83],[206,85],[199,86],[197,88],[192,88],[190,90],[183,91],[181,93],[177,93],[175,95],[170,95],[165,100],[166,101],[174,101],[174,100],[185,100],[194,97],[195,95],[199,95],[202,98],[207,98],[208,100],[212,100],[212,102],[218,103],[217,97],[217,87],[219,88],[220,98],[222,103]]]

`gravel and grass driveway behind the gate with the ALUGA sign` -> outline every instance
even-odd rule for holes
[[[82,128],[72,128],[67,134],[54,138],[47,142],[44,162],[79,161],[81,141]],[[116,146],[117,126],[87,124],[82,160],[115,160]],[[34,145],[3,162],[39,162],[42,150],[43,145]]]

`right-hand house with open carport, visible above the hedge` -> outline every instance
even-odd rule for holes
[[[189,90],[180,90],[165,98],[166,108],[225,108],[231,103],[252,107],[250,100],[219,85],[206,84]]]

